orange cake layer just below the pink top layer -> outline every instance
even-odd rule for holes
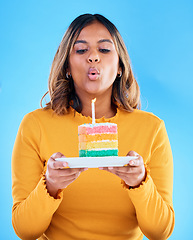
[[[102,140],[118,140],[118,136],[117,134],[93,134],[93,135],[85,135],[85,134],[81,134],[78,136],[79,138],[79,142],[94,142],[94,141],[102,141]]]

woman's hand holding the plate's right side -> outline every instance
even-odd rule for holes
[[[103,167],[99,169],[117,175],[130,187],[138,187],[146,176],[143,158],[134,151],[128,152],[127,156],[136,156],[137,159],[130,160],[124,167]]]

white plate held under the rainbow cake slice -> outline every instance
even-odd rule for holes
[[[130,160],[137,159],[134,156],[126,157],[74,157],[56,158],[57,161],[65,161],[70,168],[98,168],[98,167],[122,167]]]

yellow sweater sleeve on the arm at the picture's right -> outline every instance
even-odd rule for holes
[[[144,235],[148,239],[167,239],[174,228],[173,158],[163,121],[152,142],[145,181],[127,191]]]

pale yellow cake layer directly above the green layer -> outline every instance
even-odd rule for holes
[[[80,142],[79,149],[118,148],[118,141]]]

